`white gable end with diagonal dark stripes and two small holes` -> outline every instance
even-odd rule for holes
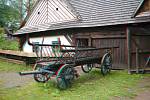
[[[71,5],[65,0],[40,0],[25,26],[49,23],[50,25],[78,20]]]

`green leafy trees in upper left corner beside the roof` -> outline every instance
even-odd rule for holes
[[[0,0],[0,27],[17,29],[29,17],[37,0]]]

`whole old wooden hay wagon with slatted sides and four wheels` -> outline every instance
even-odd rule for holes
[[[78,76],[74,69],[81,66],[83,72],[88,73],[95,64],[99,64],[101,73],[108,74],[112,68],[111,51],[117,47],[94,48],[84,46],[70,46],[54,44],[33,44],[33,51],[37,55],[37,61],[33,71],[19,72],[20,75],[33,74],[37,82],[47,82],[55,77],[59,89],[67,89],[72,80]]]

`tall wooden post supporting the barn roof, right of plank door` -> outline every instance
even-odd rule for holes
[[[132,55],[131,55],[131,32],[130,32],[130,28],[127,27],[126,30],[126,34],[127,34],[127,56],[128,56],[128,73],[131,74],[131,60],[132,60]]]

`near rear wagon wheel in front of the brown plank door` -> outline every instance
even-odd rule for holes
[[[106,53],[101,61],[101,73],[103,75],[108,74],[112,68],[112,57],[110,53]]]

